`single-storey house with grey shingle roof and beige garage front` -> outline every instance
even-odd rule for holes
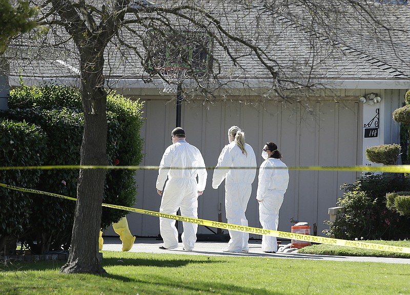
[[[409,29],[408,16],[410,13],[403,10],[401,18],[396,19],[403,31]],[[108,86],[117,93],[145,101],[147,120],[141,135],[145,138],[146,155],[141,165],[159,164],[163,151],[171,144],[170,133],[179,115],[187,141],[201,150],[209,167],[216,165],[222,147],[227,144],[227,131],[233,125],[244,130],[258,165],[262,162],[260,153],[265,142],[275,142],[283,154],[283,162],[291,167],[289,188],[280,209],[279,230],[290,231],[293,218],[309,222],[313,233],[322,235],[326,228],[323,221],[329,219],[328,208],[334,207],[343,194],[340,186],[353,183],[360,176],[360,172],[338,171],[337,167],[369,164],[365,157],[367,146],[400,143],[399,125],[392,121],[391,114],[402,106],[404,94],[410,89],[409,40],[405,33],[388,39],[345,32],[335,41],[320,35],[312,38],[310,32],[288,26],[285,21],[282,27],[279,28],[279,22],[277,25],[271,29],[281,33],[277,34],[275,50],[269,52],[283,65],[279,75],[302,82],[309,77],[315,84],[304,90],[287,90],[289,100],[272,95],[269,73],[249,53],[238,60],[240,66],[230,63],[223,52],[218,53],[221,77],[226,84],[215,90],[212,101],[203,96],[183,100],[178,115],[176,94],[163,92],[159,77],[146,83],[147,73],[132,54],[120,58],[107,52],[110,54]],[[331,52],[329,47],[333,49]],[[28,85],[44,81],[73,85],[78,82],[76,60],[64,50],[49,50],[47,65],[29,48],[14,46],[9,52],[20,56],[17,61],[9,61],[10,87],[19,86],[21,63],[25,63],[21,75]],[[183,83],[189,86],[190,80]],[[336,169],[297,169],[311,166]],[[209,170],[207,188],[199,197],[198,216],[226,221],[224,188],[212,189],[212,174]],[[136,171],[136,208],[158,211],[156,176],[155,170]],[[260,227],[256,188],[257,180],[253,183],[247,217],[250,226]],[[159,234],[156,217],[132,213],[128,221],[135,235]],[[198,233],[211,234],[211,230],[216,232],[200,226]],[[110,229],[106,234],[113,232]]]

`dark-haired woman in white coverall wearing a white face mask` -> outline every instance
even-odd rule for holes
[[[282,154],[273,142],[266,143],[262,150],[264,162],[259,167],[258,189],[256,199],[259,202],[259,221],[263,229],[278,230],[279,209],[283,195],[288,189],[288,167],[280,160]],[[278,168],[278,169],[275,169]],[[276,237],[262,236],[262,251],[276,253]]]

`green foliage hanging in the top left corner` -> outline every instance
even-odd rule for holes
[[[36,26],[32,20],[38,9],[30,7],[28,1],[18,0],[12,6],[9,0],[0,0],[0,54],[7,49],[10,38],[26,33]]]

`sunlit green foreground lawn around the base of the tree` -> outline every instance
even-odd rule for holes
[[[104,276],[63,262],[0,266],[0,294],[410,294],[410,264],[103,252]]]

